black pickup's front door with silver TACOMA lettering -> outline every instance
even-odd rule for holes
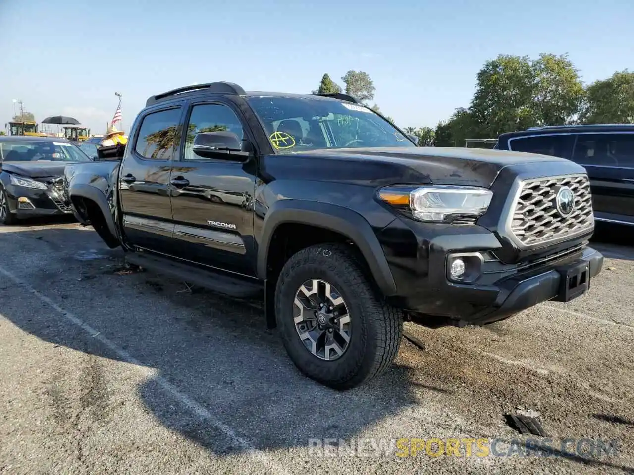
[[[192,103],[185,130],[171,173],[176,257],[254,276],[254,159],[203,158],[191,148],[198,132],[227,130],[246,138],[242,120],[227,104]]]

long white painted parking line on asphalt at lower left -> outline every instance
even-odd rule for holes
[[[37,298],[39,298],[39,300],[49,305],[49,307],[54,308],[63,317],[65,317],[65,319],[69,320],[70,322],[77,325],[78,327],[81,327],[81,329],[84,330],[84,332],[86,332],[87,336],[89,336],[90,338],[94,338],[100,341],[101,343],[103,343],[103,345],[107,346],[110,350],[112,350],[112,352],[116,353],[117,356],[122,361],[135,365],[139,369],[139,371],[142,371],[145,374],[148,374],[148,372],[150,372],[150,369],[148,367],[143,365],[141,362],[139,362],[139,360],[134,358],[132,355],[130,355],[128,352],[126,352],[122,348],[119,348],[119,346],[115,345],[115,343],[110,341],[108,338],[105,338],[105,336],[101,335],[100,331],[97,331],[93,327],[89,326],[82,319],[76,317],[74,314],[60,307],[53,300],[49,299],[46,295],[39,293],[36,289],[32,288],[29,284],[27,284],[27,282],[23,281],[19,277],[14,276],[11,272],[4,269],[3,267],[0,267],[0,273],[4,274],[6,277],[11,279],[11,281],[18,284],[20,288],[25,289],[29,291],[30,293],[32,293],[33,295],[35,295]],[[179,391],[176,388],[176,386],[173,386],[172,384],[168,383],[161,376],[155,376],[154,381],[157,384],[159,384],[159,386],[161,386],[165,391],[167,391],[167,393],[169,393],[175,400],[178,400],[179,402],[181,402],[184,405],[184,407],[191,410],[191,412],[196,414],[203,421],[207,421],[210,424],[212,424],[212,426],[215,426],[222,433],[224,433],[228,438],[230,438],[231,441],[233,441],[233,443],[242,447],[243,450],[245,450],[245,452],[249,453],[249,455],[259,460],[259,462],[261,462],[264,466],[271,469],[273,473],[275,473],[276,475],[288,474],[288,472],[285,469],[283,469],[283,467],[276,464],[271,459],[271,457],[269,457],[266,453],[261,452],[261,450],[257,450],[257,448],[255,448],[249,441],[238,436],[235,433],[235,431],[233,431],[233,429],[231,429],[229,426],[224,424],[224,422],[217,419],[217,417],[212,415],[209,412],[209,410],[205,409],[205,407],[195,402],[189,396],[181,393],[181,391]]]

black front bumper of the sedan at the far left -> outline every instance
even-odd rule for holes
[[[53,187],[34,189],[14,184],[6,185],[10,212],[18,218],[72,214],[63,197]]]

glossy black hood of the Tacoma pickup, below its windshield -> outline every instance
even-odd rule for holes
[[[283,167],[294,173],[304,168],[307,178],[385,182],[432,182],[490,187],[505,167],[531,164],[548,174],[550,165],[557,167],[568,160],[555,156],[535,155],[491,149],[399,147],[399,148],[329,148],[277,155]],[[323,160],[320,167],[307,166],[306,160]],[[348,166],[329,166],[330,160],[344,160]],[[550,162],[550,165],[549,165]],[[275,170],[276,172],[282,170]]]

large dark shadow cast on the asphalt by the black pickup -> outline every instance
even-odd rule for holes
[[[412,370],[398,365],[356,390],[329,390],[295,369],[276,331],[266,329],[258,303],[207,291],[192,294],[183,282],[150,272],[116,274],[114,270],[124,264],[123,253],[108,250],[94,232],[16,232],[24,238],[25,249],[28,241],[41,243],[36,239],[45,234],[44,244],[72,246],[82,242],[84,248],[99,251],[87,260],[51,254],[50,262],[42,263],[43,269],[51,267],[51,274],[46,269],[34,273],[29,284],[100,331],[117,348],[155,369],[162,379],[150,378],[139,387],[143,405],[163,426],[214,453],[240,453],[245,448],[236,447],[217,426],[201,419],[191,407],[179,404],[163,380],[261,450],[306,448],[312,438],[349,440],[362,436],[387,417],[424,404],[415,395],[418,387],[451,397],[450,390],[414,383]],[[16,259],[5,259],[1,265],[13,272],[20,269],[19,257]],[[0,295],[16,295],[13,282],[4,277],[2,281]],[[27,296],[20,294],[20,298]],[[87,355],[122,360],[59,313],[47,309],[44,315],[32,315],[10,303],[10,299],[4,303],[2,313],[23,331]],[[20,305],[23,310],[26,304]],[[41,303],[32,308],[41,308]],[[95,405],[107,405],[104,391],[95,397],[101,398]],[[396,438],[401,436],[416,435],[399,434]],[[626,468],[601,460],[566,458],[581,464]]]

